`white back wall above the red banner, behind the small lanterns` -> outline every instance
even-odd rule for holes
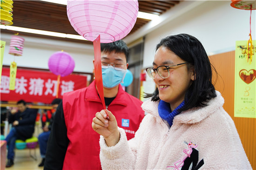
[[[92,45],[70,43],[54,39],[40,39],[22,36],[25,39],[22,56],[9,54],[9,45],[12,34],[1,33],[0,39],[6,41],[3,65],[10,65],[15,60],[18,66],[32,68],[48,68],[48,59],[57,51],[69,53],[74,61],[74,72],[93,72],[94,50]]]

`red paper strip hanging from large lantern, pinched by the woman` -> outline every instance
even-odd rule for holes
[[[104,92],[103,92],[103,83],[102,83],[102,72],[101,72],[101,41],[100,40],[101,40],[100,35],[94,40],[94,74],[95,74],[95,83],[96,83],[97,91],[101,98],[101,103],[103,105],[103,108],[106,109]]]

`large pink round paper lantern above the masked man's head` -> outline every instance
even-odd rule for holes
[[[67,17],[74,30],[101,43],[124,38],[135,25],[138,0],[67,0]]]

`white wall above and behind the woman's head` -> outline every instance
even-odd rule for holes
[[[168,35],[193,35],[202,42],[209,55],[235,50],[237,40],[249,39],[250,11],[233,8],[230,3],[229,0],[205,1],[148,33],[145,36],[143,68],[152,66],[155,46]],[[252,10],[251,16],[252,39],[256,39],[255,11]]]

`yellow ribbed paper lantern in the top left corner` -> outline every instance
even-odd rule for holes
[[[13,22],[13,1],[12,0],[1,0],[0,4],[0,24],[1,25],[12,25]]]

